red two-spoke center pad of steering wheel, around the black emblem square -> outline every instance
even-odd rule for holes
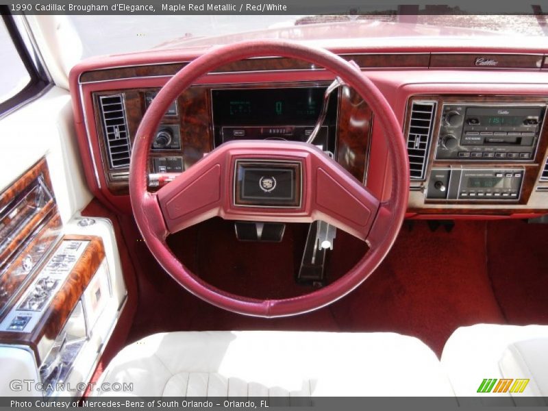
[[[300,206],[238,205],[234,189],[238,160],[300,163]],[[227,142],[157,195],[170,233],[221,216],[236,221],[323,220],[365,240],[379,207],[379,200],[323,151],[303,142],[269,140]]]

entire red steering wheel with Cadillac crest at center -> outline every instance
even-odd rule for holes
[[[158,192],[147,191],[147,157],[153,136],[171,102],[216,67],[251,57],[277,55],[322,66],[370,105],[386,136],[392,188],[377,199],[323,151],[304,142],[240,140],[214,149]],[[291,176],[292,195],[272,207],[247,200],[245,167],[266,163]],[[370,177],[371,178],[371,177]],[[272,181],[267,184],[271,188]],[[287,41],[240,42],[212,49],[193,60],[158,92],[136,134],[129,173],[129,194],[137,225],[164,269],[197,297],[232,312],[278,317],[326,306],[360,285],[392,247],[406,212],[409,164],[401,127],[378,88],[360,69],[337,55]],[[253,196],[251,196],[253,197]],[[166,237],[214,216],[228,220],[308,222],[323,220],[367,242],[369,251],[348,273],[314,292],[288,299],[251,299],[233,295],[191,273],[166,245]]]

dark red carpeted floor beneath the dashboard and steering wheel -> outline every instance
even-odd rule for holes
[[[97,210],[93,210],[97,212]],[[176,330],[288,329],[398,332],[421,338],[438,355],[459,326],[548,323],[548,226],[523,221],[457,221],[432,232],[425,221],[404,225],[377,271],[327,308],[285,319],[257,319],[220,310],[166,275],[129,216],[119,216],[138,288],[127,338]],[[294,274],[306,225],[291,225],[279,244],[238,242],[232,223],[213,219],[170,238],[173,251],[201,277],[249,297],[307,292]],[[329,279],[345,273],[364,243],[339,232]]]

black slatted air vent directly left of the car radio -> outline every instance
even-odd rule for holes
[[[413,101],[407,135],[407,153],[412,180],[423,180],[432,139],[436,101]]]

